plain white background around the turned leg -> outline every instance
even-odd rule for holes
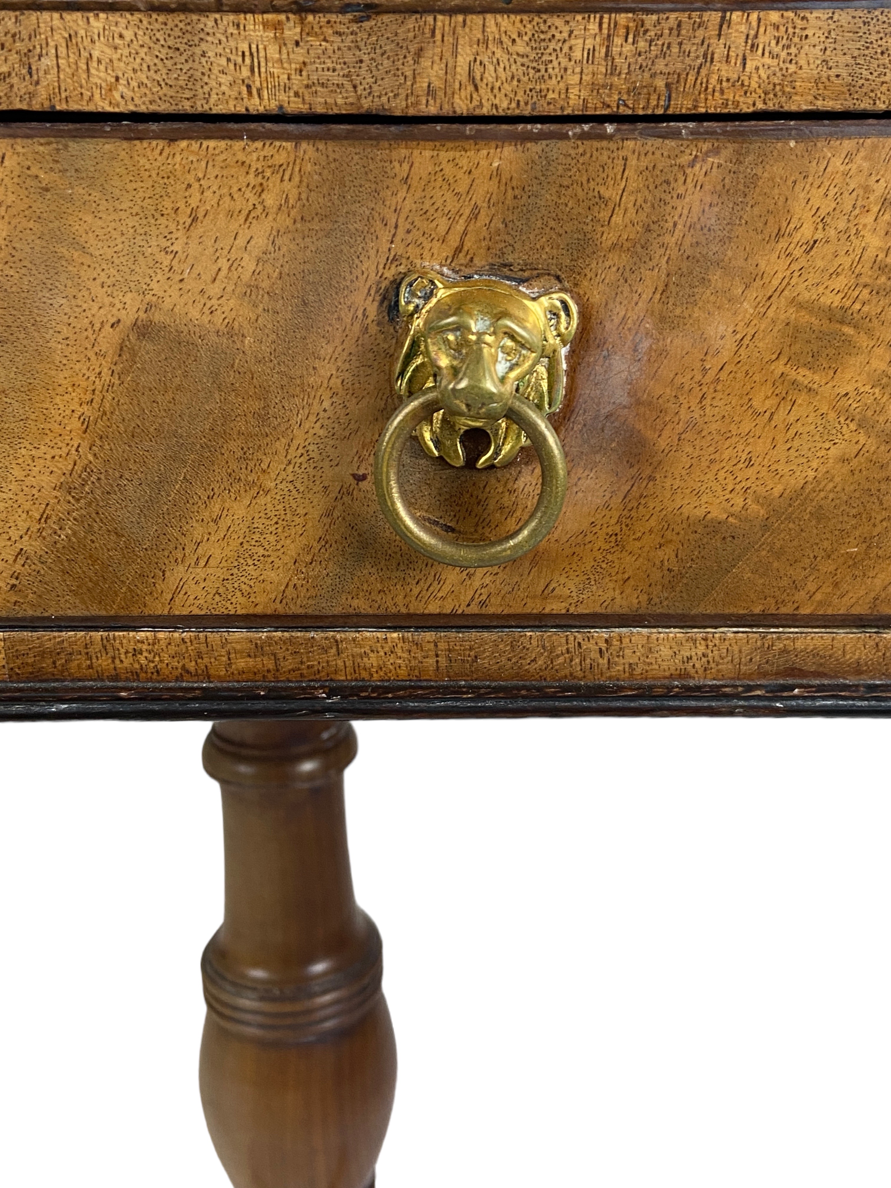
[[[380,1188],[887,1188],[890,728],[359,723],[400,1060]],[[0,731],[0,1182],[226,1188],[207,726]]]

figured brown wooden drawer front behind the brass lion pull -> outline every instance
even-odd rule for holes
[[[885,127],[7,128],[0,613],[890,613]],[[421,266],[580,308],[564,510],[506,565],[375,500]],[[488,539],[529,454],[403,486]]]

